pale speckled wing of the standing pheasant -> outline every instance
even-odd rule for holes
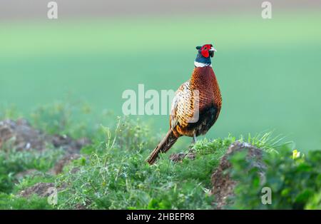
[[[179,126],[185,128],[193,119],[195,91],[190,87],[190,81],[186,81],[178,88],[172,102],[170,111],[170,128]]]

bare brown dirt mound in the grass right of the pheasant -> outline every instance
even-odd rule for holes
[[[249,143],[240,143],[235,141],[228,148],[228,151],[225,153],[223,158],[220,160],[220,165],[214,171],[212,175],[213,189],[211,193],[215,195],[215,208],[222,209],[227,205],[227,199],[234,194],[234,188],[237,182],[230,178],[225,171],[228,168],[231,168],[231,164],[228,161],[228,158],[235,152],[248,150],[248,161],[250,161],[251,166],[258,167],[260,170],[265,170],[265,164],[262,162],[263,151],[260,148],[255,148]],[[261,177],[264,176],[264,173],[260,173]]]

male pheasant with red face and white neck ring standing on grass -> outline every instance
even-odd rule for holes
[[[165,138],[148,157],[155,163],[159,153],[167,152],[180,136],[204,135],[213,126],[220,114],[222,97],[210,58],[216,51],[212,44],[197,46],[198,54],[190,80],[175,92],[170,111],[170,129]]]

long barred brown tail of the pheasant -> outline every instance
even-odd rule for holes
[[[147,162],[152,165],[155,163],[156,159],[158,158],[159,153],[165,153],[167,152],[170,147],[173,146],[173,144],[177,141],[177,137],[174,136],[173,131],[170,129],[168,133],[166,134],[165,138],[158,144],[158,146],[153,150],[151,155],[149,155]]]

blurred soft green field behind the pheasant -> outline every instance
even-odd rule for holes
[[[274,130],[321,148],[320,13],[164,18],[0,24],[0,106],[82,100],[121,114],[123,91],[175,90],[195,46],[213,43],[223,111],[209,138]],[[168,116],[143,119],[168,128]]]

